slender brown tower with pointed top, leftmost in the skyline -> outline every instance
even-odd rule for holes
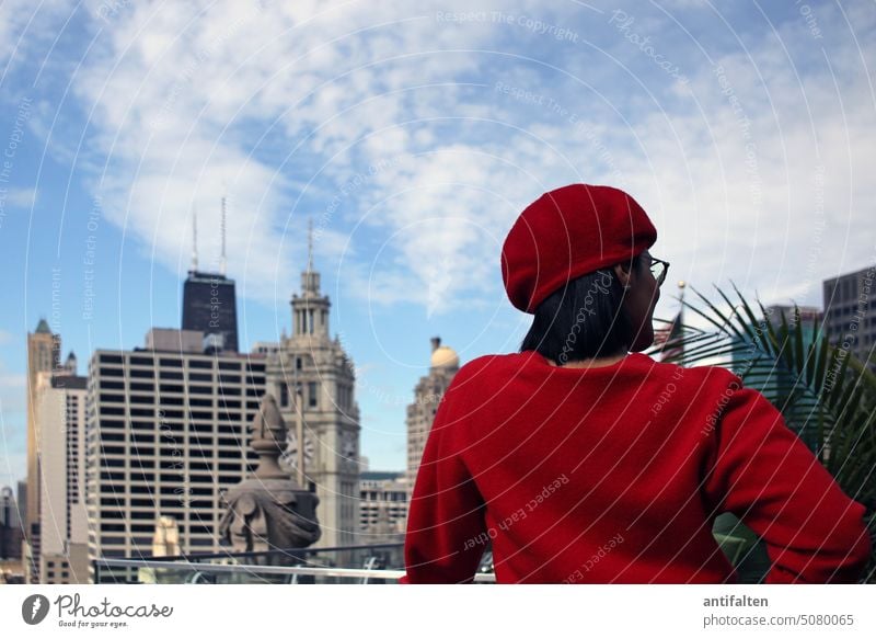
[[[39,434],[37,431],[36,388],[41,374],[51,374],[60,365],[61,337],[53,334],[45,319],[36,331],[27,333],[27,502],[24,535],[25,574],[28,582],[39,581]]]

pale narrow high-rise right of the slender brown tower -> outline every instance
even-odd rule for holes
[[[39,485],[39,582],[88,582],[85,511],[87,377],[76,375],[71,354],[65,371],[41,375],[37,430]]]

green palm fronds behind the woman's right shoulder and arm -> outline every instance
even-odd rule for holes
[[[684,309],[705,320],[708,329],[682,326],[681,337],[667,344],[672,354],[664,361],[687,367],[721,365],[733,369],[747,387],[763,392],[843,491],[867,506],[876,537],[876,375],[868,368],[872,363],[831,345],[822,326],[816,321],[805,326],[797,307],[791,318],[784,312],[772,317],[759,300],[749,303],[735,285],[736,300],[716,290],[721,306],[695,289],[696,300],[682,300]],[[762,560],[762,544],[741,525],[738,521],[728,525],[725,517],[715,537],[740,578],[757,582],[751,566],[765,570],[769,563]],[[876,582],[876,557],[865,582]]]

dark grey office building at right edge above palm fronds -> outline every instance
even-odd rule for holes
[[[867,361],[876,352],[876,265],[825,280],[822,289],[828,339]]]

